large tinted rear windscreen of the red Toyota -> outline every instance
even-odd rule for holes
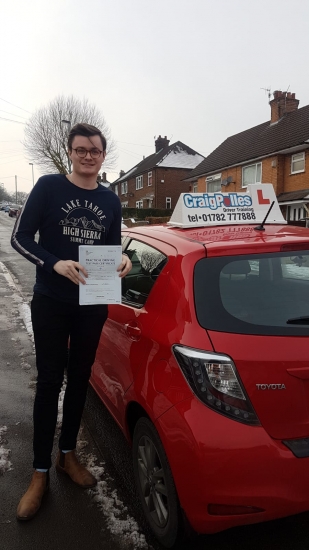
[[[212,330],[309,334],[309,251],[200,260],[197,317]]]

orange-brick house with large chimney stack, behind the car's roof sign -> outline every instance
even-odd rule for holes
[[[272,183],[284,217],[293,223],[309,216],[309,105],[298,109],[289,92],[273,95],[270,121],[227,138],[185,181],[199,193]]]

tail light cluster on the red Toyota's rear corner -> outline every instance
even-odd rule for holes
[[[260,425],[230,357],[178,345],[173,352],[191,389],[205,405],[233,420]]]

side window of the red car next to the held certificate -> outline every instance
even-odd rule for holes
[[[125,253],[132,262],[132,269],[122,279],[122,301],[142,307],[167,262],[167,257],[146,243],[131,240]]]

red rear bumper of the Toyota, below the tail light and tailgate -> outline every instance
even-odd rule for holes
[[[309,510],[309,458],[296,458],[263,427],[229,420],[194,397],[169,409],[156,426],[195,531],[215,533]],[[230,507],[231,515],[212,515],[209,505]],[[262,511],[235,513],[236,506]]]

